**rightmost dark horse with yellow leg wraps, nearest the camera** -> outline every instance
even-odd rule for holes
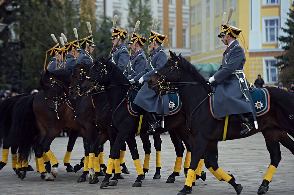
[[[188,190],[191,190],[191,174],[197,168],[197,163],[202,154],[205,154],[204,162],[208,170],[219,180],[223,179],[230,183],[237,194],[241,193],[241,185],[236,185],[235,178],[222,171],[217,164],[217,141],[223,138],[224,121],[219,121],[212,117],[208,99],[202,102],[212,92],[210,85],[205,82],[202,75],[190,62],[171,51],[170,54],[171,59],[147,83],[149,88],[154,89],[157,94],[162,92],[162,88],[167,87],[165,84],[168,84],[169,87],[173,84],[177,85],[183,107],[189,116],[188,123],[191,123],[191,131],[195,135],[186,183],[178,194],[186,194]],[[279,142],[294,154],[294,141],[287,135],[288,133],[292,137],[294,136],[294,121],[288,117],[294,110],[294,95],[278,88],[266,88],[271,97],[271,109],[257,118],[259,129],[252,129],[249,133],[239,136],[241,129],[239,121],[229,121],[227,127],[227,140],[248,137],[259,131],[262,132],[266,140],[271,164],[258,189],[258,194],[267,192],[268,184],[272,180],[272,176],[281,160]],[[200,104],[200,102],[202,103]],[[196,107],[197,109],[195,109]]]

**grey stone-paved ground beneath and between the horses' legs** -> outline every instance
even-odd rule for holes
[[[141,188],[132,188],[136,180],[137,173],[132,161],[129,150],[126,152],[125,161],[130,175],[123,174],[124,179],[119,180],[117,186],[99,188],[103,176],[99,177],[98,184],[77,183],[77,179],[82,174],[67,173],[63,166],[63,156],[66,152],[68,139],[65,137],[56,138],[51,150],[59,161],[59,173],[54,181],[41,180],[40,174],[36,171],[27,173],[24,180],[17,178],[17,175],[11,168],[11,156],[9,155],[8,164],[0,171],[0,194],[177,194],[185,183],[183,168],[180,175],[176,178],[175,183],[165,183],[168,176],[172,173],[176,159],[175,151],[172,146],[169,135],[162,135],[162,152],[161,152],[161,179],[153,180],[156,164],[156,152],[152,146],[149,173],[146,174]],[[151,142],[153,143],[153,139]],[[137,144],[140,159],[144,160],[144,151],[142,142],[137,137]],[[262,183],[262,178],[267,171],[270,163],[269,153],[266,149],[265,141],[261,133],[254,136],[240,139],[219,142],[219,166],[227,173],[235,176],[237,183],[241,183],[243,190],[241,194],[257,194],[257,190]],[[276,194],[293,194],[293,162],[292,153],[281,145],[282,160],[270,183],[267,195]],[[109,143],[104,146],[104,159],[107,163],[109,155]],[[2,155],[2,152],[1,152]],[[82,139],[79,137],[72,151],[70,163],[75,165],[79,163],[83,156]],[[29,164],[36,170],[34,161]],[[141,162],[143,165],[143,162]],[[197,180],[196,186],[193,187],[192,194],[236,194],[232,186],[224,181],[218,181],[204,167],[207,173],[206,181]],[[291,193],[292,192],[292,193]]]

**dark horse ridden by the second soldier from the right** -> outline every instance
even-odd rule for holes
[[[137,180],[132,187],[140,187],[142,185],[144,172],[139,161],[136,140],[134,142],[130,141],[130,138],[133,138],[138,131],[139,118],[129,114],[127,110],[127,104],[125,102],[125,94],[130,88],[130,82],[115,64],[109,62],[109,58],[100,58],[94,62],[90,69],[89,76],[81,86],[82,91],[87,91],[88,88],[92,86],[93,81],[95,81],[95,83],[99,82],[100,84],[105,84],[108,86],[123,85],[119,87],[105,86],[105,94],[113,111],[112,127],[117,132],[117,137],[109,155],[105,178],[100,187],[107,187],[109,185],[111,170],[108,168],[112,167],[114,159],[119,158],[119,150],[125,141],[127,141],[138,174]],[[157,132],[161,133],[165,131],[173,131],[185,143],[186,147],[189,147],[189,132],[187,131],[185,118],[186,115],[183,113],[183,111],[180,111],[172,116],[168,116],[166,117],[166,127],[164,129],[160,128]],[[147,121],[143,120],[141,133],[145,133],[148,129],[149,127]],[[187,150],[189,151],[189,148]]]

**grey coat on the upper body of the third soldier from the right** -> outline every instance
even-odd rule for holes
[[[136,51],[129,60],[128,67],[124,75],[127,79],[133,79],[135,76],[140,74],[147,67],[147,59],[144,51]]]

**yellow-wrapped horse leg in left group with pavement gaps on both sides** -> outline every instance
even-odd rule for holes
[[[63,159],[64,166],[66,166],[67,172],[74,172],[72,165],[69,163],[70,156],[72,154],[73,146],[76,143],[77,137],[79,136],[80,131],[70,131],[68,143],[67,143],[67,150]]]

